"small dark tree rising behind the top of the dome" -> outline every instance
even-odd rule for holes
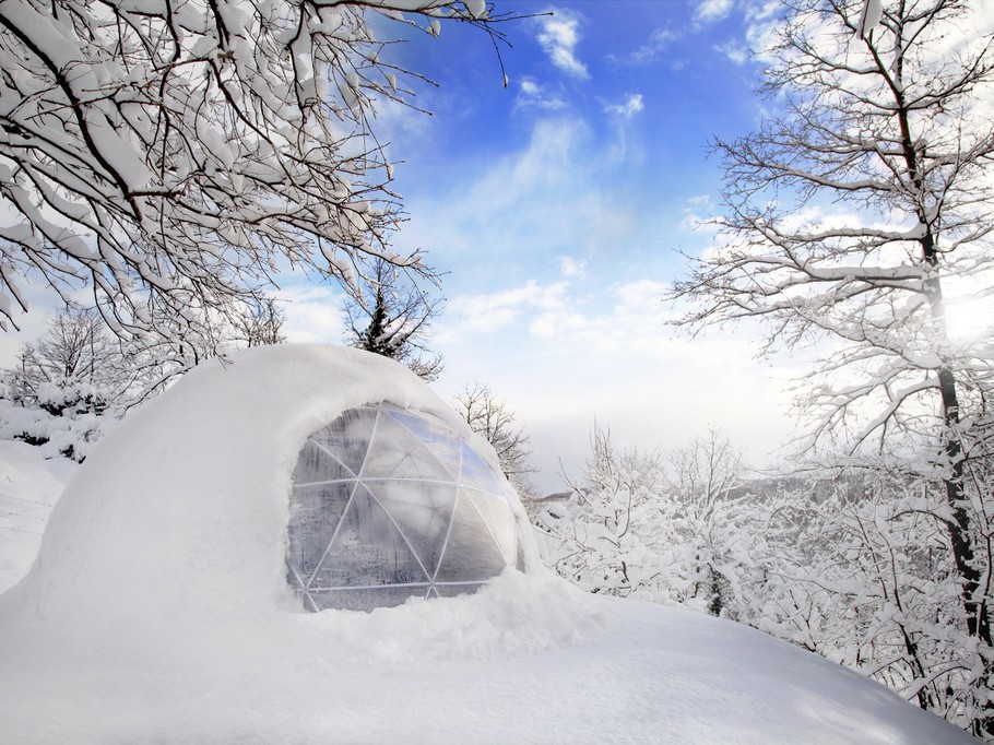
[[[376,259],[359,291],[345,300],[351,343],[406,365],[424,380],[435,380],[442,358],[428,344],[440,304],[402,276],[397,267]]]

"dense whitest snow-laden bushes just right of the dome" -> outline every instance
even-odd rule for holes
[[[591,592],[752,617],[752,586],[765,572],[744,529],[747,495],[732,493],[741,465],[727,440],[695,441],[673,460],[675,473],[660,453],[618,449],[605,429],[591,445],[565,509],[540,516],[561,541],[549,556],[556,571]]]

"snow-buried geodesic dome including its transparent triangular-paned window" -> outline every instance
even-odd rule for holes
[[[544,571],[486,440],[392,360],[286,344],[200,365],[109,433],[0,617],[371,610],[509,567]]]

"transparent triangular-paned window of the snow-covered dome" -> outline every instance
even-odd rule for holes
[[[436,416],[352,409],[297,458],[287,580],[309,611],[474,592],[520,567],[516,498]]]

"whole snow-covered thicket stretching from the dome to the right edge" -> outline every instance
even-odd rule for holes
[[[992,494],[992,460],[968,458],[971,494]],[[982,731],[989,651],[962,619],[945,487],[906,466],[876,456],[841,473],[744,478],[718,430],[662,458],[596,429],[569,501],[541,515],[559,542],[545,558],[590,592],[753,626]],[[994,532],[990,499],[969,509]]]

